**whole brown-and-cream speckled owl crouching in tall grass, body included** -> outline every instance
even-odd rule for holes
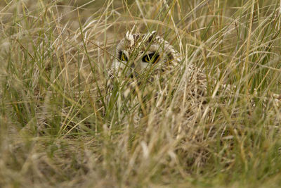
[[[176,72],[177,70],[180,71]],[[126,32],[124,38],[117,44],[115,57],[108,70],[105,97],[107,107],[117,106],[123,111],[125,108],[139,107],[143,104],[145,108],[145,100],[148,101],[151,97],[157,98],[158,104],[161,104],[165,101],[161,91],[162,85],[179,74],[180,82],[173,82],[176,84],[170,87],[176,90],[171,93],[179,93],[178,100],[174,100],[178,104],[174,106],[181,106],[187,101],[184,104],[187,105],[186,116],[190,120],[193,116],[198,116],[199,111],[203,114],[207,101],[218,96],[220,91],[226,96],[227,101],[227,97],[233,93],[233,88],[234,90],[236,88],[235,85],[224,83],[211,85],[212,88],[209,90],[213,92],[208,94],[207,82],[210,80],[213,80],[212,83],[220,82],[214,77],[208,77],[207,81],[206,70],[188,63],[174,46],[157,36],[155,31],[145,34]],[[149,98],[148,95],[152,92],[154,95]],[[265,101],[273,100],[276,106],[280,106],[280,99],[280,94],[273,94],[266,97]],[[251,106],[255,106],[254,101],[251,101]],[[207,114],[206,112],[204,114]]]

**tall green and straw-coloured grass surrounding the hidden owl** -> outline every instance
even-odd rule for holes
[[[280,4],[1,0],[0,187],[280,187]],[[143,116],[107,106],[133,28],[204,70],[210,113],[185,97],[184,68]]]

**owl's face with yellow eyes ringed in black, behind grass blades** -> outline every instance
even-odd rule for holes
[[[178,52],[155,31],[146,34],[127,32],[117,44],[112,70],[118,76],[134,77],[147,71],[159,73],[174,67],[176,61],[179,61]]]

